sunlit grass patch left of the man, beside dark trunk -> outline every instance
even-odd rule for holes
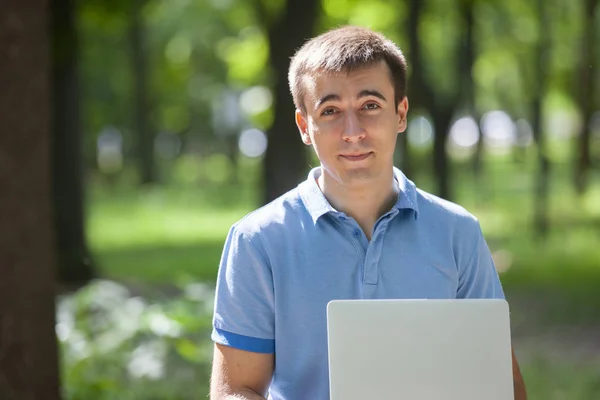
[[[88,235],[102,273],[149,283],[181,276],[214,280],[225,236],[248,210],[207,197],[198,189],[160,187],[98,193]]]

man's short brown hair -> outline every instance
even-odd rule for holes
[[[397,107],[406,95],[406,60],[394,42],[357,26],[336,28],[307,41],[292,57],[288,74],[296,108],[306,112],[305,77],[350,72],[382,60],[390,69]]]

